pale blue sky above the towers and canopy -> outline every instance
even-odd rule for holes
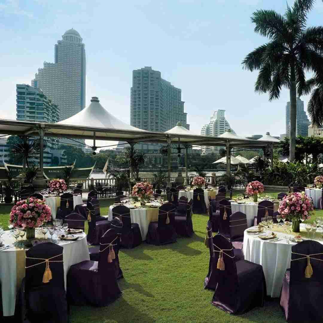
[[[287,1],[289,5],[293,1]],[[92,96],[130,122],[132,70],[152,66],[182,89],[191,130],[199,133],[213,111],[225,109],[238,135],[285,133],[285,105],[254,92],[257,73],[241,61],[266,42],[250,22],[257,9],[284,13],[286,1],[19,1],[0,0],[0,118],[16,119],[16,83],[28,83],[54,44],[73,27],[87,55],[86,105]],[[322,24],[317,1],[308,25]],[[308,97],[302,97],[307,105]]]

